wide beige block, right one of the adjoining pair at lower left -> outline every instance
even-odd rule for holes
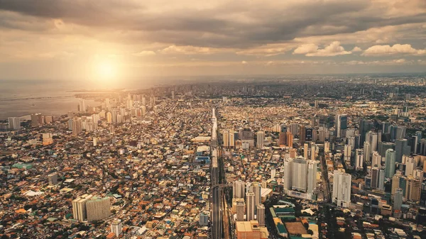
[[[86,202],[87,221],[98,221],[108,218],[111,214],[111,202],[109,197],[98,198],[96,196],[90,198]]]

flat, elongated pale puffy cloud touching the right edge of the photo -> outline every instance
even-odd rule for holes
[[[410,44],[391,45],[373,45],[364,51],[364,56],[381,56],[381,55],[425,55],[426,50],[417,50]]]

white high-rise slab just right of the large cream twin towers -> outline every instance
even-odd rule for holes
[[[351,203],[351,174],[334,170],[333,203],[347,207]]]

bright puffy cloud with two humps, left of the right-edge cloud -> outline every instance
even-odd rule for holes
[[[318,49],[315,44],[300,45],[293,54],[305,54],[307,57],[332,57],[335,55],[346,55],[352,52],[344,50],[339,41],[334,41],[324,49]]]

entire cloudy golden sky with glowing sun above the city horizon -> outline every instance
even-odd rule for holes
[[[425,0],[0,0],[0,79],[425,69]]]

